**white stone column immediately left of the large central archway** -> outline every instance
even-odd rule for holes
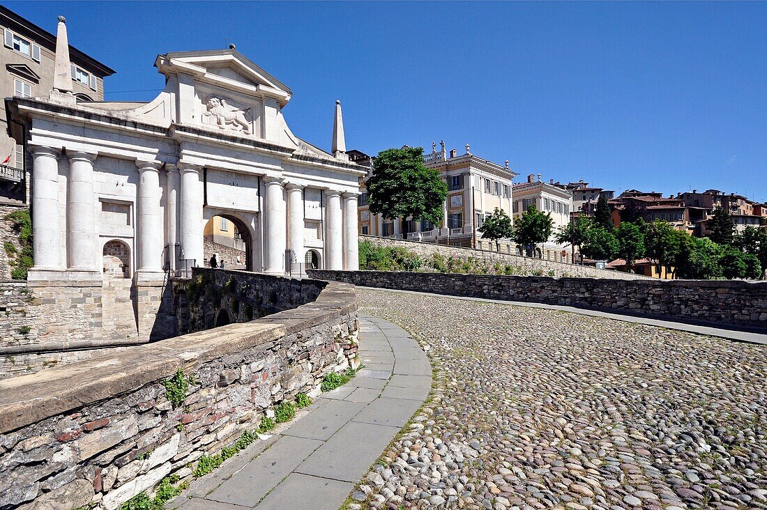
[[[202,260],[202,183],[200,167],[179,162],[181,174],[181,258],[194,259],[194,264],[205,266]]]

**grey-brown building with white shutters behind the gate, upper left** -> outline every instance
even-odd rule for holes
[[[48,97],[53,89],[56,36],[2,5],[0,25],[4,37],[0,60],[5,69],[0,74],[0,89],[4,97]],[[114,71],[72,46],[69,54],[72,94],[82,102],[104,100],[104,77]],[[8,137],[5,102],[0,122],[3,126],[0,135],[0,203],[25,204],[25,150]]]

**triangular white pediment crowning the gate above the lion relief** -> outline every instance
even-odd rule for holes
[[[192,74],[199,81],[244,92],[265,92],[284,105],[292,93],[287,85],[236,50],[179,51],[157,57],[163,74]]]

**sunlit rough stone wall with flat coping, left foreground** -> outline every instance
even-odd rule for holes
[[[231,275],[218,277],[206,285]],[[354,288],[305,282],[320,288],[314,301],[285,291],[297,307],[268,318],[0,381],[0,508],[119,508],[167,475],[189,479],[275,404],[318,394],[324,374],[357,367]],[[174,407],[163,380],[177,370],[192,380]]]

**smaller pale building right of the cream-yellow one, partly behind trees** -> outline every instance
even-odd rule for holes
[[[542,212],[551,213],[553,228],[551,229],[551,238],[542,246],[532,248],[537,258],[545,258],[556,262],[571,262],[571,245],[560,245],[554,240],[555,232],[562,226],[570,222],[570,212],[573,209],[573,194],[565,186],[557,185],[553,181],[544,183],[541,180],[542,175],[530,174],[525,183],[514,185],[514,205],[512,213],[514,218],[522,215],[522,212],[535,206]],[[525,254],[525,247],[518,246],[517,252],[520,255]],[[525,255],[531,255],[527,253]]]

